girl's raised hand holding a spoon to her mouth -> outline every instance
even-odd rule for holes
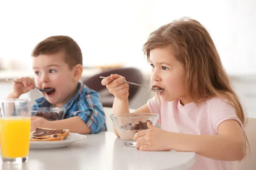
[[[107,89],[117,99],[128,99],[129,96],[129,85],[125,83],[125,77],[118,74],[111,74],[102,80],[102,85],[106,85]]]

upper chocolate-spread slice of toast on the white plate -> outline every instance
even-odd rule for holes
[[[63,137],[64,139],[66,136],[69,135],[69,133],[70,131],[68,129],[58,130],[37,127],[32,132],[32,135],[30,137],[31,139],[50,139],[53,138],[54,135],[58,135],[58,137]]]

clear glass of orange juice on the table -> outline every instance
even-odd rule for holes
[[[27,162],[31,125],[30,99],[0,101],[0,147],[4,163]]]

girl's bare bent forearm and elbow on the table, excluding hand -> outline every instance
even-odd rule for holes
[[[218,135],[170,133],[169,149],[192,151],[210,159],[241,160],[245,156],[245,140],[239,123],[227,120],[218,126]]]

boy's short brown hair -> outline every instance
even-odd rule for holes
[[[35,46],[31,56],[37,57],[40,54],[55,54],[58,52],[64,52],[64,60],[70,68],[73,68],[77,64],[83,65],[81,49],[76,41],[68,36],[48,37]]]

